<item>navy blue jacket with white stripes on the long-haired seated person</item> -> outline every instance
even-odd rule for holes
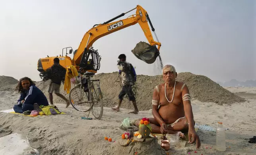
[[[44,93],[37,88],[35,85],[29,87],[28,91],[23,91],[20,93],[20,97],[17,101],[17,104],[21,103],[21,100],[25,100],[23,104],[34,104],[37,103],[39,106],[44,105],[48,106],[48,100]]]

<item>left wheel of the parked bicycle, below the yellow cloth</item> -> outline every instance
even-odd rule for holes
[[[80,112],[88,112],[91,104],[88,102],[88,93],[83,91],[83,87],[76,86],[71,89],[69,100],[73,108]]]

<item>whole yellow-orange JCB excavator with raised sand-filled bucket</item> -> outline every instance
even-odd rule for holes
[[[135,15],[130,15],[126,19],[112,22],[124,16],[126,13],[133,11],[134,9],[136,9]],[[64,68],[73,65],[80,73],[85,73],[86,71],[97,73],[97,71],[100,68],[101,56],[99,56],[97,50],[93,49],[93,43],[103,36],[121,30],[128,26],[135,25],[137,23],[140,24],[140,27],[142,28],[145,37],[147,38],[147,41],[149,42],[150,45],[149,47],[146,47],[138,51],[138,53],[140,53],[139,55],[137,53],[133,53],[138,59],[143,60],[148,64],[153,63],[159,56],[159,49],[161,47],[161,43],[158,41],[158,38],[155,34],[155,29],[153,28],[147,11],[145,11],[145,9],[143,9],[139,5],[137,5],[137,7],[134,9],[126,13],[122,13],[102,24],[94,25],[89,31],[85,33],[77,50],[73,51],[72,47],[63,48],[62,55],[56,56],[60,59],[60,65],[62,65]],[[149,22],[152,31],[155,34],[157,42],[154,41],[147,22]],[[156,45],[158,47],[156,47]],[[63,55],[64,52],[65,55]],[[71,59],[70,57],[68,57],[68,54],[73,54],[74,58]],[[46,58],[39,59],[37,63],[37,70],[41,73],[46,72],[47,68],[50,68],[52,66],[54,58],[55,57],[49,57],[47,55]]]

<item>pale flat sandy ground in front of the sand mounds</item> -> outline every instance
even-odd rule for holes
[[[195,146],[188,144],[180,149],[172,147],[169,153],[172,155],[187,155],[188,152],[191,155],[256,154],[255,144],[248,143],[248,138],[256,134],[256,94],[237,95],[245,97],[246,102],[220,106],[216,103],[192,101],[196,123],[216,127],[217,122],[222,121],[223,126],[229,128],[226,131],[225,152],[216,151],[215,132],[198,130],[202,147],[197,153],[194,153]],[[12,108],[19,94],[2,91],[0,97],[0,110],[6,110]],[[118,140],[124,132],[118,126],[126,117],[130,117],[131,120],[152,117],[151,110],[132,115],[128,114],[130,110],[121,109],[120,112],[113,112],[111,108],[104,107],[101,120],[83,120],[81,117],[86,117],[88,113],[78,112],[72,106],[65,108],[64,103],[58,103],[56,106],[66,114],[27,117],[0,113],[0,137],[11,133],[27,136],[31,146],[38,149],[41,155],[119,155],[120,153],[133,155],[135,148],[139,147],[122,147],[117,142],[107,142],[104,136],[110,136],[114,141]],[[93,115],[90,114],[89,117]]]

